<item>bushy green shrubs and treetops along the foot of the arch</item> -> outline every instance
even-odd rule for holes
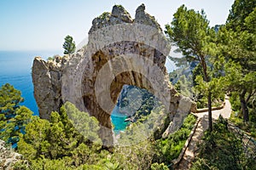
[[[120,134],[119,144],[110,153],[101,149],[102,143],[97,143],[99,127],[95,117],[67,102],[60,113],[52,112],[50,121],[32,117],[26,126],[26,133],[20,134],[18,143],[18,152],[27,161],[18,161],[14,169],[166,169],[164,163],[152,165],[157,161],[155,156],[164,159],[153,139],[153,132],[165,123],[163,117],[163,108],[157,107],[145,117],[143,123],[132,123],[125,133]],[[172,151],[180,152],[177,148],[182,149],[183,141],[194,123],[195,117],[188,116],[180,132],[165,139],[168,144],[175,141]],[[91,132],[85,133],[83,129],[90,129]],[[181,139],[183,141],[179,141]]]

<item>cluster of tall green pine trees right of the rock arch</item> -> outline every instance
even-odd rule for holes
[[[170,74],[178,91],[189,95],[199,107],[206,106],[207,93],[212,94],[210,101],[217,105],[218,101],[224,100],[224,94],[230,94],[232,108],[238,113],[236,116],[249,123],[256,108],[255,8],[255,1],[236,0],[225,25],[201,31],[204,28],[202,20],[207,25],[206,15],[181,7],[174,14],[171,25],[166,25],[167,35],[184,56],[181,59],[172,58],[182,67]],[[201,16],[201,21],[196,21],[197,15]],[[201,59],[199,54],[205,54],[208,83],[201,60],[199,64],[195,62]],[[191,74],[187,73],[189,71]],[[185,76],[178,76],[179,72]]]

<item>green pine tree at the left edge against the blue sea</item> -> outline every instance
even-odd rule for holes
[[[19,141],[19,134],[25,132],[32,116],[32,111],[20,106],[22,101],[20,91],[9,83],[0,88],[0,139],[8,144]]]

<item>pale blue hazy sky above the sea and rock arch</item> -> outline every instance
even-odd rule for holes
[[[111,12],[114,4],[123,5],[134,18],[142,3],[164,29],[182,4],[204,9],[210,26],[224,24],[234,0],[0,0],[0,50],[62,52],[64,37],[70,35],[79,44],[88,37],[91,21]]]

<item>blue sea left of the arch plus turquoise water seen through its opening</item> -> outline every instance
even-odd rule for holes
[[[21,105],[26,105],[34,112],[34,115],[38,115],[38,105],[33,96],[33,59],[35,56],[47,59],[55,54],[61,53],[57,51],[0,51],[0,86],[9,83],[20,90],[21,96],[25,99]],[[125,129],[127,126],[125,118],[126,116],[119,113],[117,108],[114,108],[111,119],[115,133]]]

